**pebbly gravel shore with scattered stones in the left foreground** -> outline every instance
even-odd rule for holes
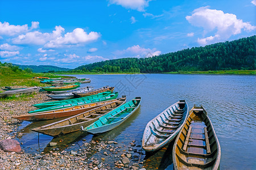
[[[22,136],[22,133],[15,131],[22,121],[11,116],[35,109],[32,104],[46,102],[49,100],[46,95],[43,92],[24,99],[0,101],[0,141]],[[0,169],[144,169],[143,161],[131,161],[134,158],[133,142],[131,141],[127,151],[122,150],[117,142],[101,140],[89,143],[84,141],[79,149],[73,151],[56,149],[48,153],[30,154],[24,150],[19,153],[0,150]],[[102,153],[102,158],[93,158],[94,152]],[[110,157],[111,164],[108,162]]]

